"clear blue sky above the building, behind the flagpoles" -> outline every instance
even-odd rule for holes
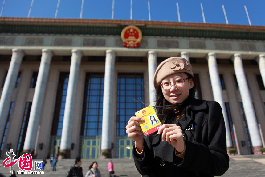
[[[2,9],[4,0],[0,0]],[[27,17],[32,0],[5,0],[2,17]],[[30,17],[54,18],[58,0],[34,0]],[[131,0],[115,0],[114,19],[130,19]],[[229,24],[265,25],[265,0],[149,0],[151,20],[203,23],[201,3],[206,23],[224,23],[224,5]],[[80,18],[82,0],[60,0],[57,18]],[[84,0],[83,19],[111,19],[112,0]],[[149,20],[148,0],[133,0],[132,19]]]

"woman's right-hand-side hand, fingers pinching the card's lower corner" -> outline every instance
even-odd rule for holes
[[[162,141],[167,141],[171,144],[178,152],[184,150],[184,140],[182,129],[176,124],[163,124],[159,129],[157,134],[162,133]]]

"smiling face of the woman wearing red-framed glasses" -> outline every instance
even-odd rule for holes
[[[188,78],[187,74],[184,72],[182,73],[176,73],[172,74],[162,80],[161,83],[164,82],[172,82],[172,86],[170,89],[162,89],[162,93],[165,97],[165,99],[172,104],[180,104],[189,96],[189,89],[191,89],[194,86],[193,79],[187,79],[185,80],[184,84],[182,86],[175,86],[173,84],[173,81],[179,80],[179,79],[186,79]]]

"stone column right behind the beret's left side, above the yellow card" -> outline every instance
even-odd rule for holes
[[[148,78],[149,78],[149,104],[156,105],[156,90],[154,87],[154,75],[157,69],[157,52],[148,52]]]

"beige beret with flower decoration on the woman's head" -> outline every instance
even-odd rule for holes
[[[154,75],[154,86],[156,87],[159,85],[164,78],[181,72],[189,73],[193,76],[192,66],[188,60],[182,57],[170,57],[165,59],[157,67]]]

